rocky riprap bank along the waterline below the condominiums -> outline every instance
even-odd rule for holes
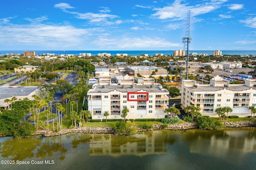
[[[224,127],[254,127],[254,121],[237,121],[237,122],[223,122]],[[149,130],[187,130],[197,128],[196,123],[182,123],[182,124],[169,124],[167,128],[163,128],[162,124],[154,124],[151,129],[138,128],[138,132]],[[45,137],[64,135],[67,133],[110,133],[113,134],[113,127],[81,127],[77,129],[63,129],[62,131],[36,131],[33,135],[43,135]]]

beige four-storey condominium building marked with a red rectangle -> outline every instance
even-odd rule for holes
[[[118,85],[120,84],[120,85]],[[122,110],[129,109],[126,119],[164,118],[164,109],[168,108],[169,92],[153,78],[144,78],[142,85],[136,85],[134,79],[124,76],[120,83],[112,85],[111,79],[100,79],[87,93],[88,110],[92,119],[122,119]]]

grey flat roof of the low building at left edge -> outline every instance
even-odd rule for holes
[[[18,96],[28,96],[30,93],[34,92],[37,86],[10,86],[10,87],[0,87],[0,100]]]

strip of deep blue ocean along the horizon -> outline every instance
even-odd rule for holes
[[[33,50],[30,50],[33,51]],[[108,51],[108,50],[99,50],[99,51],[90,51],[90,50],[76,50],[76,51],[52,51],[52,50],[34,50],[36,52],[36,55],[42,55],[44,53],[55,53],[56,55],[60,54],[73,54],[73,55],[79,55],[79,53],[91,53],[92,55],[98,55],[98,53],[110,53],[111,55],[119,54],[128,54],[128,55],[140,55],[140,54],[148,54],[150,56],[154,56],[156,53],[162,53],[164,55],[173,55],[173,50],[155,50],[155,51]],[[212,50],[214,51],[214,50]],[[206,53],[208,55],[212,54],[211,50],[190,50],[190,53]],[[221,50],[222,51],[222,50]],[[0,54],[6,55],[6,53],[20,53],[23,54],[23,51],[21,50],[0,50]],[[223,50],[222,55],[256,55],[256,50]]]

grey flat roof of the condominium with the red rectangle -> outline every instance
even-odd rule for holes
[[[140,86],[140,85],[134,85],[132,88],[130,85],[124,85],[124,87],[122,88],[122,85],[117,85],[117,86],[113,86],[113,85],[103,85],[104,88],[102,88],[102,85],[96,85],[94,89],[91,89],[88,91],[88,95],[90,95],[90,93],[108,93],[108,92],[111,92],[111,91],[120,91],[120,92],[137,92],[137,91],[140,91],[141,89],[144,90],[144,91],[147,91],[147,92],[168,92],[168,90],[164,89],[164,90],[161,90],[159,87],[159,85],[152,85],[151,88],[150,85],[143,85],[143,86]],[[168,92],[169,93],[169,92]]]

